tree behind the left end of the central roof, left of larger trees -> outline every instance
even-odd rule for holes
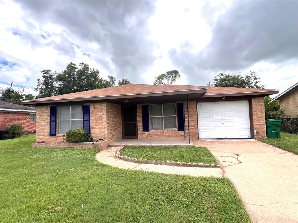
[[[35,87],[35,91],[39,92],[36,98],[45,98],[57,95],[57,86],[55,84],[55,78],[57,72],[52,73],[51,70],[42,70],[41,71],[42,80],[37,79],[37,85]]]

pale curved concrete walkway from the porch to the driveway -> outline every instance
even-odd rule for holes
[[[95,155],[95,159],[101,163],[108,164],[113,167],[122,169],[144,170],[149,172],[190,175],[195,177],[223,177],[221,168],[204,168],[204,167],[176,167],[166,165],[153,165],[153,164],[139,164],[124,161],[115,156],[120,147],[108,147],[101,150]]]

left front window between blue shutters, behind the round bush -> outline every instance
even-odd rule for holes
[[[83,128],[83,111],[81,105],[58,107],[58,134],[66,134],[71,129]]]

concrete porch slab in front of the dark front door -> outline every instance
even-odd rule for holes
[[[190,140],[190,144],[184,144],[184,138],[156,138],[156,139],[120,139],[116,142],[109,144],[110,147],[122,147],[122,146],[193,146],[193,142]]]

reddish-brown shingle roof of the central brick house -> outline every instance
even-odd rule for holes
[[[241,93],[241,92],[262,92],[271,89],[256,89],[256,88],[237,88],[237,87],[209,87],[209,86],[194,86],[194,85],[150,85],[150,84],[126,84],[116,87],[101,88],[89,91],[82,91],[70,93],[65,95],[57,95],[47,98],[38,98],[30,101],[38,100],[55,100],[55,99],[69,99],[69,98],[85,98],[97,96],[114,96],[114,95],[132,95],[145,94],[156,92],[171,92],[181,90],[193,89],[207,89],[206,95],[209,94],[223,94],[223,93]]]

